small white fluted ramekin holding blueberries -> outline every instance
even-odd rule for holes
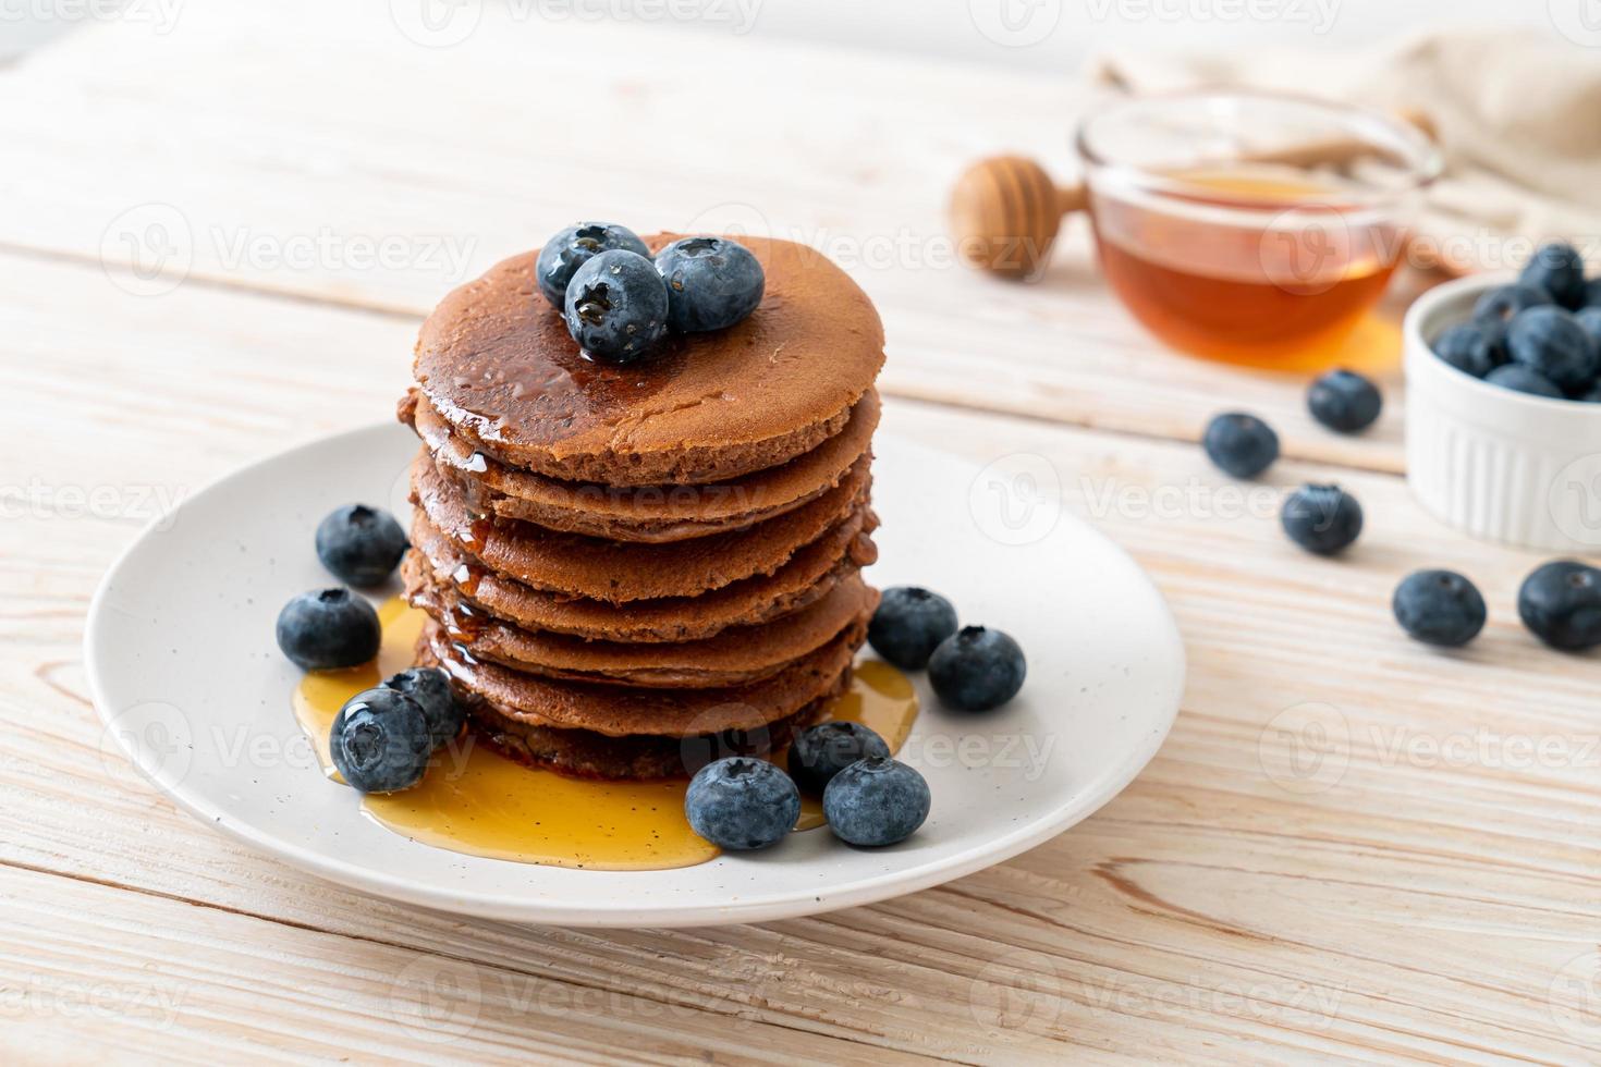
[[[1406,315],[1407,483],[1457,530],[1527,549],[1601,550],[1601,405],[1483,382],[1430,342],[1511,274],[1430,290]]]

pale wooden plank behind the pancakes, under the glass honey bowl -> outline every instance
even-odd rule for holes
[[[967,163],[1010,149],[1073,173],[1092,101],[1069,80],[496,11],[448,50],[383,5],[309,3],[192,3],[168,34],[112,24],[46,50],[0,75],[51,101],[0,114],[0,246],[107,262],[139,290],[163,283],[123,266],[419,317],[573,218],[762,230],[836,256],[877,301],[892,394],[1185,440],[1241,406],[1287,454],[1399,470],[1393,414],[1332,435],[1302,376],[1162,349],[1097,277],[1082,221],[1036,283],[956,266],[945,200]],[[319,32],[288,45],[298,19]],[[549,85],[584,86],[583,106],[551,107]],[[693,120],[712,93],[717,120]],[[1394,355],[1374,336],[1353,358]]]

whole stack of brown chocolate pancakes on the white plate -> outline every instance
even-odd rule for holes
[[[676,240],[647,238],[652,251]],[[884,331],[820,253],[740,238],[760,307],[628,366],[589,360],[538,251],[423,325],[407,595],[479,739],[535,766],[664,777],[788,744],[850,681],[877,592]]]

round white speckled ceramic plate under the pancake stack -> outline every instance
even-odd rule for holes
[[[1111,800],[1178,709],[1183,648],[1150,579],[1061,514],[1023,458],[980,472],[881,434],[881,587],[922,584],[964,622],[1009,630],[1028,681],[989,715],[924,712],[901,752],[933,792],[908,841],[855,849],[828,830],[698,867],[596,872],[464,856],[399,837],[322,777],[290,712],[299,672],[274,643],[291,595],[330,585],[312,550],[328,510],[407,514],[416,438],[375,426],[274,456],[189,498],[101,582],[85,656],[106,747],[199,819],[346,886],[427,907],[568,926],[693,926],[826,912],[1015,856]],[[1015,459],[1015,458],[1013,458]],[[1042,462],[1042,461],[1041,461]],[[115,763],[115,758],[112,760]]]

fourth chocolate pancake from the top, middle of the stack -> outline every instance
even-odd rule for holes
[[[869,536],[877,517],[858,506],[844,522],[767,576],[746,577],[701,597],[664,597],[612,605],[533,589],[495,574],[427,517],[411,518],[411,557],[435,582],[448,582],[469,605],[530,630],[612,641],[695,641],[730,625],[754,625],[813,603],[837,582],[877,560]]]

